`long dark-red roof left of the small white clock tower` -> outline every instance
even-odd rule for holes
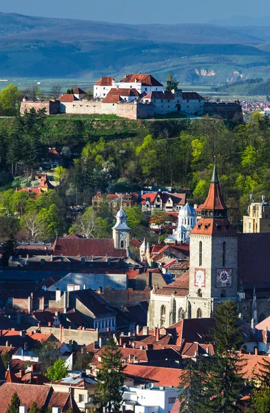
[[[111,238],[58,238],[52,247],[54,255],[67,257],[126,257],[125,249],[114,248],[114,240]]]

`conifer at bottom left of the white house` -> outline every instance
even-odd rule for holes
[[[123,397],[124,374],[122,372],[122,354],[113,337],[104,346],[101,368],[96,374],[96,391],[94,403],[104,407],[105,412],[119,410]]]

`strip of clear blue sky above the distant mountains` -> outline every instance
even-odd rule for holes
[[[243,14],[270,16],[270,3],[259,8],[253,0],[9,0],[0,11],[113,23],[208,23]]]

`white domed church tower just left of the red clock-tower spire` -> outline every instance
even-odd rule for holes
[[[196,211],[187,202],[185,207],[181,208],[178,213],[177,229],[166,238],[166,244],[173,244],[175,242],[189,242],[189,233],[196,225]]]

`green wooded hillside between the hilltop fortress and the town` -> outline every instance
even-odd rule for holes
[[[69,122],[65,119],[62,125],[70,125]],[[81,214],[86,214],[85,222],[95,222],[90,236],[110,236],[114,216],[105,200],[100,212],[93,215],[89,210],[98,190],[125,193],[143,185],[168,185],[174,191],[186,191],[189,200],[203,202],[215,156],[229,217],[239,231],[250,193],[254,200],[260,200],[261,195],[270,198],[268,116],[253,112],[247,124],[228,124],[206,116],[183,124],[179,120],[172,123],[172,128],[167,121],[166,127],[159,129],[155,129],[155,122],[128,122],[107,120],[101,121],[99,127],[91,124],[95,129],[87,124],[86,129],[82,121],[73,121],[73,129],[67,127],[63,136],[53,133],[55,128],[58,131],[57,118],[33,109],[25,116],[1,123],[0,237],[8,227],[9,232],[21,231],[22,237],[28,234],[31,240],[52,240],[57,233],[81,228],[74,210],[78,205]],[[118,134],[108,134],[112,125],[118,125]],[[135,129],[130,133],[132,125],[140,126],[137,133]],[[32,173],[39,169],[48,147],[56,147],[64,162],[64,168],[57,171],[60,184],[56,190],[37,199],[26,191],[14,191],[31,186]],[[134,230],[134,235],[140,236],[145,218],[140,215],[135,221],[138,233]],[[37,237],[31,225],[39,227]]]

